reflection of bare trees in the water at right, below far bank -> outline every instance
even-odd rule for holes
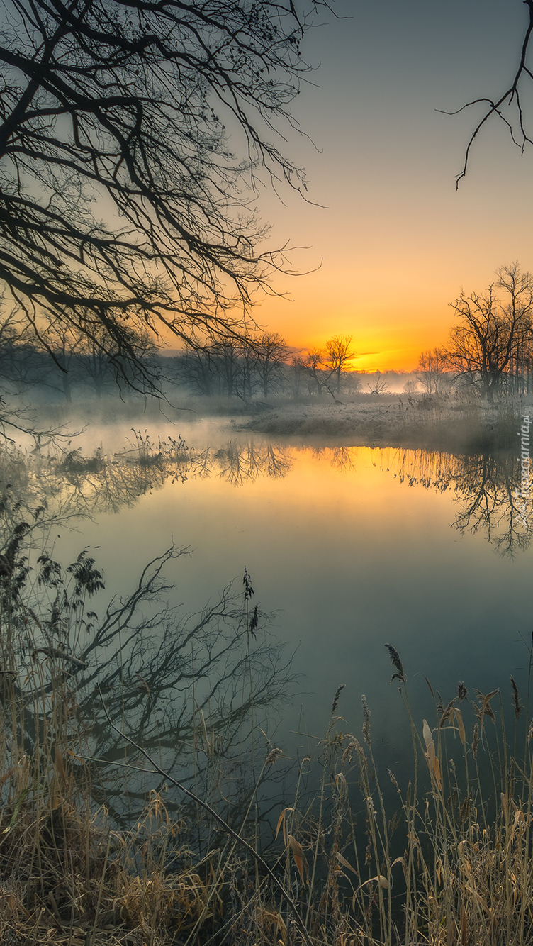
[[[520,468],[515,454],[454,456],[394,450],[382,455],[381,465],[409,486],[440,493],[453,490],[460,503],[453,525],[461,534],[481,532],[499,554],[508,557],[529,547],[531,502],[520,498]]]

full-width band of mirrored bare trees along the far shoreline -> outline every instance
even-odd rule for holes
[[[268,440],[238,438],[223,446],[196,450],[185,441],[132,431],[127,447],[114,453],[79,449],[43,455],[4,450],[0,454],[2,509],[28,510],[31,517],[56,524],[69,517],[98,517],[134,506],[167,483],[218,478],[235,487],[259,479],[284,479],[296,455],[326,458],[343,476],[356,474],[361,447],[287,447]],[[363,448],[364,449],[364,448]],[[450,490],[458,505],[451,522],[461,534],[484,534],[501,555],[513,556],[531,543],[531,501],[520,499],[520,470],[506,452],[455,456],[450,453],[380,449],[379,466],[411,487]],[[376,465],[376,464],[374,464]]]

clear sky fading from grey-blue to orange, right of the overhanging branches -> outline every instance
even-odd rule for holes
[[[411,371],[445,344],[461,289],[481,291],[499,266],[533,270],[533,147],[521,154],[492,119],[456,190],[481,115],[514,76],[527,21],[522,0],[337,0],[303,53],[318,65],[288,135],[308,196],[265,193],[267,245],[289,242],[298,277],[260,300],[256,321],[295,348],[349,334],[353,367]],[[348,17],[348,18],[346,18]],[[528,116],[533,137],[533,96]],[[313,272],[314,271],[314,272]]]

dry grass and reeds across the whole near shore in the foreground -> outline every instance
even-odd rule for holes
[[[17,542],[10,560],[22,574]],[[357,738],[338,715],[345,693],[339,687],[315,758],[301,761],[294,797],[280,802],[266,864],[257,789],[280,764],[277,746],[269,745],[256,765],[255,785],[240,797],[232,828],[203,799],[197,822],[194,806],[188,823],[169,815],[180,787],[170,777],[168,794],[161,785],[149,792],[144,813],[126,829],[95,806],[93,722],[77,703],[79,661],[72,657],[83,588],[72,599],[70,625],[52,611],[45,627],[35,602],[22,601],[24,586],[14,583],[16,569],[7,574],[6,562],[0,573],[2,944],[533,941],[533,730],[514,679],[507,694],[510,736],[500,693],[469,700],[462,683],[448,700],[431,691],[435,716],[428,722],[428,712],[415,725],[401,656],[387,644],[413,745],[411,774],[384,780],[372,753],[371,697],[362,698]],[[87,571],[85,589],[89,578],[97,586],[96,576]],[[49,646],[35,646],[44,631]],[[29,651],[26,662],[23,651],[26,657]],[[206,743],[213,743],[204,729]],[[115,764],[123,762],[130,757]],[[214,774],[225,763],[215,751],[211,762]],[[306,772],[318,777],[311,795]],[[200,818],[204,825],[214,821],[204,834],[211,838],[206,854],[192,843],[190,829],[199,834]]]

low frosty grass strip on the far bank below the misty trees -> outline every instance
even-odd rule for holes
[[[425,447],[441,450],[502,449],[514,444],[515,425],[526,402],[502,395],[494,405],[468,392],[352,394],[343,403],[331,397],[270,398],[268,403],[238,398],[181,395],[174,401],[125,397],[86,399],[30,408],[43,429],[85,425],[178,426],[219,418],[241,429],[293,440],[329,438],[370,447]],[[530,405],[531,407],[531,405]],[[533,410],[533,408],[532,408]]]

